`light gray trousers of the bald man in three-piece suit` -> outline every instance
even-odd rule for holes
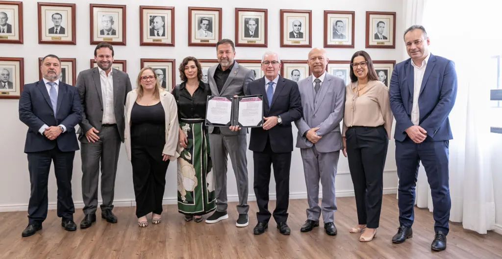
[[[335,176],[340,151],[321,153],[315,148],[301,149],[303,172],[307,185],[307,219],[319,220],[322,209],[324,223],[333,222],[336,211]],[[319,207],[319,180],[322,184],[322,201]]]

